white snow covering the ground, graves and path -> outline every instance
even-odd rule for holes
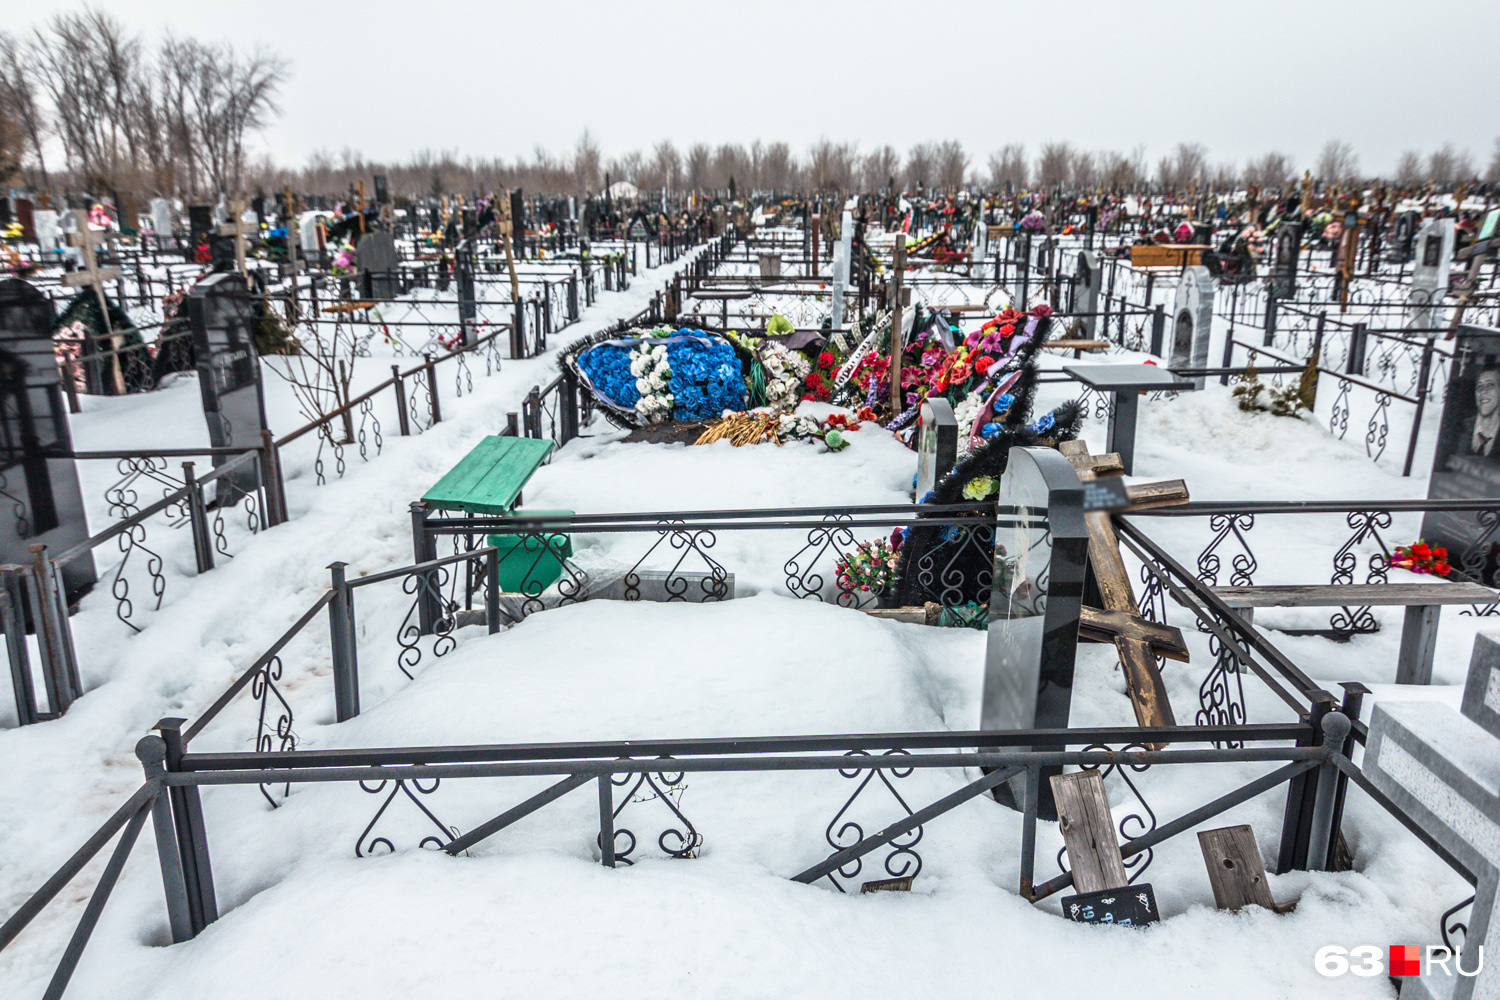
[[[492,378],[476,372],[472,393],[460,399],[446,391],[444,420],[426,433],[399,438],[393,417],[384,415],[382,453],[368,463],[351,459],[342,480],[315,486],[315,442],[294,445],[284,459],[291,520],[254,538],[231,526],[236,558],[213,573],[192,577],[184,532],[156,529],[152,541],[160,544],[168,574],[164,607],[138,610],[142,631],[132,634],[116,621],[108,588],[96,591],[74,619],[88,693],[66,717],[40,726],[15,729],[14,715],[0,717],[9,726],[0,730],[8,763],[0,774],[0,912],[12,912],[138,787],[135,741],[159,717],[200,715],[316,600],[327,564],[345,561],[351,576],[410,564],[410,501],[482,435],[502,427],[504,414],[519,409],[534,384],[552,378],[560,340],[639,312],[670,270],[602,295],[580,325],[554,339],[549,357],[506,361]],[[1046,363],[1068,360],[1048,355]],[[372,358],[362,361],[358,378],[369,385],[386,370],[384,360]],[[273,426],[300,423],[290,394],[274,379],[268,385]],[[1064,397],[1065,387],[1046,387],[1038,406]],[[76,445],[140,447],[142,436],[160,447],[201,445],[198,405],[192,378],[148,396],[90,399],[75,418]],[[537,472],[528,507],[594,513],[902,502],[915,471],[914,456],[874,426],[850,433],[842,453],[812,444],[624,444],[602,423],[588,435]],[[1102,450],[1102,423],[1090,421],[1084,438]],[[1196,499],[1422,496],[1420,457],[1416,468],[1419,475],[1401,478],[1389,460],[1371,462],[1362,441],[1338,441],[1311,418],[1245,414],[1214,382],[1142,408],[1138,478],[1184,478]],[[84,478],[86,493],[98,498],[114,472],[86,466]],[[1209,537],[1203,520],[1138,523],[1191,565]],[[1388,540],[1414,540],[1418,520],[1398,514]],[[596,601],[534,615],[496,636],[466,628],[446,657],[429,648],[411,681],[396,667],[393,642],[410,597],[399,582],[363,588],[364,712],[357,720],[333,724],[321,622],[284,654],[280,690],[297,711],[300,745],[976,727],[984,636],[879,622],[788,597],[782,567],[794,546],[789,534],[718,532],[714,558],[736,574],[741,600]],[[1258,520],[1251,535],[1256,582],[1324,580],[1348,534],[1340,514]],[[586,565],[622,567],[650,541],[582,535],[574,544]],[[1168,612],[1173,624],[1188,624],[1179,609]],[[1376,609],[1386,627],[1346,645],[1270,637],[1332,690],[1359,679],[1377,697],[1456,705],[1452,685],[1462,681],[1484,622],[1458,612],[1444,609],[1438,687],[1422,691],[1389,684],[1396,609]],[[1266,612],[1257,624],[1292,624],[1296,615]],[[1185,628],[1185,637],[1192,663],[1166,669],[1179,718],[1191,717],[1212,664],[1206,636]],[[1251,681],[1246,694],[1252,721],[1288,717]],[[1072,720],[1132,721],[1114,655],[1104,646],[1080,648]],[[254,709],[242,696],[194,750],[248,750],[254,735]],[[1132,780],[1166,820],[1268,769],[1158,766]],[[974,777],[918,769],[897,787],[915,808]],[[453,780],[420,798],[444,825],[468,829],[548,783]],[[1467,895],[1461,880],[1358,790],[1344,822],[1356,871],[1272,876],[1274,895],[1298,901],[1294,912],[1216,912],[1190,834],[1156,849],[1146,880],[1166,919],[1138,931],[1070,924],[1056,900],[1023,903],[1016,895],[1020,817],[987,798],[927,826],[914,892],[840,895],[826,882],[804,886],[789,876],[826,856],[824,834],[852,792],[850,780],[837,772],[694,774],[686,784],[680,808],[704,835],[700,856],[662,859],[656,835],[669,814],[662,802],[636,802],[620,822],[636,832],[640,862],[612,871],[597,862],[597,802],[588,789],[466,858],[418,850],[434,832],[430,820],[399,798],[375,831],[396,853],[363,859],[354,856],[356,844],[390,789],[294,787],[278,810],[254,787],[206,789],[222,918],[190,943],[166,945],[147,829],[69,996],[1374,997],[1392,996],[1384,979],[1323,979],[1312,969],[1314,952],[1330,943],[1432,942],[1437,915]],[[1120,817],[1140,811],[1118,777],[1110,795]],[[1282,802],[1278,789],[1210,825],[1251,823],[1262,852],[1274,856]],[[860,817],[867,831],[898,814],[868,793],[860,808],[867,810]],[[1054,874],[1060,846],[1056,829],[1042,825],[1040,879]],[[878,864],[873,855],[866,871]],[[4,996],[40,996],[100,868],[102,858],[0,952]]]

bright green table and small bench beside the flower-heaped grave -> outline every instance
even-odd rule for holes
[[[447,475],[438,480],[422,499],[428,510],[453,510],[466,514],[528,514],[570,517],[570,510],[519,511],[520,490],[556,447],[550,439],[501,438],[490,435],[474,445]],[[546,546],[536,537],[489,535],[486,541],[500,550],[500,589],[507,594],[540,594],[562,576],[562,559],[573,555],[573,540],[566,534],[544,535]],[[530,547],[528,547],[530,541]]]

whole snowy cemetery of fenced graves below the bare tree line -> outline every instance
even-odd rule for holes
[[[44,145],[3,996],[1500,997],[1500,177]]]

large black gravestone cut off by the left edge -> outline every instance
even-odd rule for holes
[[[52,322],[46,295],[0,280],[0,561],[10,564],[30,562],[28,546],[63,552],[88,537]],[[62,573],[69,603],[98,579],[88,553]]]

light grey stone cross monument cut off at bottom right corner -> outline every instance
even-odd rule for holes
[[[1440,702],[1378,702],[1362,769],[1376,789],[1468,870],[1474,901],[1456,969],[1473,973],[1480,966],[1479,948],[1494,919],[1500,882],[1500,642],[1474,637],[1458,712]],[[1500,970],[1492,961],[1478,975],[1443,975],[1438,967],[1432,963],[1426,975],[1402,978],[1402,999],[1500,994]]]

